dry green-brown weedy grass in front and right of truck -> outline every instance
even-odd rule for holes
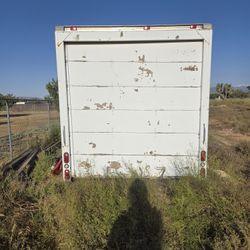
[[[206,179],[65,183],[41,154],[28,187],[1,183],[0,247],[249,249],[249,103],[211,102]]]

